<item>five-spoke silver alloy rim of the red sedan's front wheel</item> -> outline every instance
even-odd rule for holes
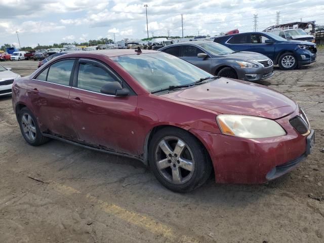
[[[168,136],[155,149],[155,164],[159,173],[173,184],[189,181],[195,169],[195,160],[189,146],[181,139]]]

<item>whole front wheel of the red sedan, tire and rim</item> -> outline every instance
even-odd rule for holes
[[[182,129],[168,127],[157,131],[148,151],[154,176],[172,191],[192,191],[211,175],[212,164],[206,149],[192,134]]]

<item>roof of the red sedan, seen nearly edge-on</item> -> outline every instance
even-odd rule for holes
[[[69,52],[67,53],[67,55],[69,57],[72,56],[80,56],[80,54],[85,54],[85,55],[89,55],[89,54],[100,54],[100,55],[104,55],[107,57],[115,57],[115,56],[124,56],[124,55],[137,55],[138,53],[135,52],[137,49],[106,49],[106,50],[93,50],[93,51],[78,51],[78,52]],[[153,50],[145,50],[145,49],[141,49],[142,53],[157,53],[158,51],[153,51]]]

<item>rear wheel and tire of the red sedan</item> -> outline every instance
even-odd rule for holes
[[[36,117],[27,107],[19,111],[18,123],[22,136],[30,145],[39,146],[49,141],[49,138],[42,135]]]

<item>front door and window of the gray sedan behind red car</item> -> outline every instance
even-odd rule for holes
[[[207,72],[212,71],[212,59],[208,55],[206,58],[204,57],[197,57],[198,53],[205,53],[198,47],[190,46],[190,45],[183,45],[180,49],[180,58],[192,63],[193,65],[204,69]]]

